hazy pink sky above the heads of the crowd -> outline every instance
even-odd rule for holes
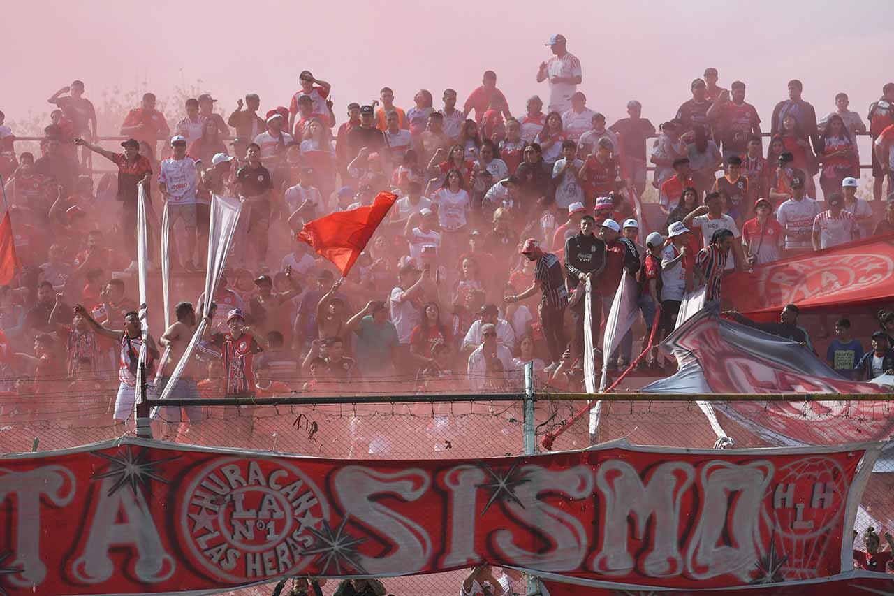
[[[298,73],[308,68],[333,84],[341,120],[348,102],[368,102],[383,85],[395,89],[398,106],[411,106],[420,88],[430,89],[437,104],[441,91],[452,87],[461,102],[480,83],[481,73],[493,69],[515,114],[523,111],[527,96],[547,96],[546,84],[536,83],[535,74],[550,55],[544,41],[553,32],[569,39],[569,51],[583,64],[580,89],[588,106],[610,123],[625,115],[630,98],[643,103],[644,115],[654,123],[669,119],[690,97],[689,83],[705,66],[719,69],[725,87],[735,79],[746,81],[746,100],[767,128],[772,106],[785,97],[791,78],[805,82],[804,97],[818,114],[834,109],[833,97],[843,90],[864,117],[869,102],[881,94],[884,77],[894,78],[881,67],[890,64],[890,32],[882,24],[888,4],[843,10],[828,0],[789,2],[785,12],[793,16],[775,17],[789,24],[775,27],[770,23],[776,3],[751,5],[730,11],[728,3],[708,0],[613,5],[95,0],[64,8],[44,0],[19,2],[4,8],[6,22],[20,26],[4,30],[3,45],[11,48],[4,54],[16,58],[4,63],[4,81],[12,84],[5,86],[0,109],[7,121],[29,110],[46,111],[46,98],[75,78],[87,83],[87,96],[96,100],[114,85],[132,89],[147,81],[148,89],[164,96],[181,80],[201,79],[227,112],[249,91],[257,91],[267,108],[288,105]],[[746,34],[762,13],[762,25]],[[257,24],[246,26],[252,20]],[[232,33],[234,23],[244,34]],[[793,35],[785,27],[802,32]],[[87,41],[94,36],[98,41]],[[736,39],[742,41],[732,43]],[[181,117],[168,114],[169,120],[174,116]]]

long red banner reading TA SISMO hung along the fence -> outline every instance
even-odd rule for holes
[[[618,441],[543,456],[342,461],[122,438],[8,456],[0,589],[198,592],[482,561],[628,585],[791,584],[841,573],[844,536],[849,564],[878,448]]]

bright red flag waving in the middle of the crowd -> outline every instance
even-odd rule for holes
[[[395,200],[396,194],[379,192],[372,205],[330,213],[305,224],[298,240],[310,244],[317,254],[331,260],[342,276],[347,276]]]

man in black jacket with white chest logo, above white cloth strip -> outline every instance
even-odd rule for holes
[[[565,241],[565,270],[568,271],[567,283],[569,293],[575,294],[575,298],[569,302],[571,307],[571,316],[574,318],[574,350],[575,355],[580,356],[584,353],[584,310],[586,302],[584,301],[583,291],[581,287],[579,292],[575,292],[578,285],[590,277],[591,280],[598,276],[605,267],[605,243],[601,238],[597,238],[593,232],[596,227],[596,221],[592,216],[584,216],[580,219],[580,232],[571,236]],[[593,325],[593,339],[596,341],[599,337],[599,321],[602,303],[600,294],[595,290],[592,294],[592,314],[591,323]]]

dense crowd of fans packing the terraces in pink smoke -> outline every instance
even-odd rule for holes
[[[0,390],[101,396],[108,416],[129,420],[140,345],[157,390],[200,319],[215,194],[244,200],[243,215],[209,298],[215,317],[176,396],[500,392],[523,386],[526,362],[542,382],[574,390],[587,278],[598,337],[624,269],[637,277],[645,346],[673,329],[687,290],[704,285],[716,301],[730,271],[894,230],[894,203],[877,220],[868,202],[882,199],[894,166],[894,83],[867,126],[847,94],[818,117],[790,81],[768,125],[745,83],[724,89],[707,68],[656,128],[637,100],[621,118],[587,106],[567,43],[548,39],[551,55],[531,81],[545,83],[546,99],[532,95],[519,110],[486,71],[462,104],[457,90],[435,105],[420,89],[403,108],[383,87],[375,100],[340,106],[347,121],[336,126],[332,83],[303,71],[287,106],[264,98],[262,109],[248,93],[225,117],[210,93],[166,115],[146,93],[114,131],[126,140],[113,150],[98,142],[96,110],[74,81],[48,99],[55,109],[38,155],[16,152],[0,113],[0,174],[23,266],[0,287]],[[855,135],[867,131],[873,197],[860,197]],[[95,175],[91,164],[116,174]],[[168,207],[179,302],[176,322],[146,338],[135,294],[140,184],[151,198],[154,272]],[[649,184],[661,216],[646,222],[639,202]],[[370,205],[379,192],[399,199],[346,279],[295,239],[308,221]],[[787,311],[773,332],[809,344],[797,307]],[[838,320],[826,354],[837,370],[865,379],[894,368],[894,314],[881,315],[868,360],[849,327]],[[627,368],[633,346],[628,333],[604,355],[610,370]],[[675,370],[657,351],[639,366]]]

